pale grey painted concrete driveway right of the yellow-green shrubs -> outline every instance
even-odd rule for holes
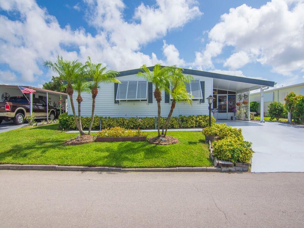
[[[252,172],[304,172],[304,128],[277,122],[216,121],[241,128],[252,142]]]

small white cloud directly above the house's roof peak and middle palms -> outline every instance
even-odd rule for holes
[[[165,65],[175,65],[178,67],[184,67],[186,65],[184,59],[179,58],[179,51],[173,44],[167,44],[166,40],[163,40],[163,53],[166,57]]]

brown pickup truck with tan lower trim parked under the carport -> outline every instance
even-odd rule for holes
[[[39,119],[47,118],[47,104],[39,98],[33,98],[33,113]],[[54,120],[57,110],[53,106],[48,106],[48,117]],[[29,116],[29,102],[25,97],[11,97],[8,102],[0,102],[0,123],[3,120],[20,125],[24,118]]]

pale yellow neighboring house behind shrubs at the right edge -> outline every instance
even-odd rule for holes
[[[304,82],[264,91],[264,112],[267,112],[268,105],[273,101],[285,103],[284,98],[290,92],[294,92],[296,95],[304,95]],[[250,102],[251,101],[256,101],[260,104],[261,92],[250,94]],[[258,113],[260,113],[260,106]]]

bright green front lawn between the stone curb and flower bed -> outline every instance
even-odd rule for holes
[[[212,166],[201,132],[169,131],[179,143],[168,146],[145,142],[94,142],[66,146],[77,133],[65,133],[59,124],[22,127],[0,133],[1,164],[57,164],[109,167]],[[147,132],[147,137],[156,136]],[[94,134],[93,134],[94,135]]]

